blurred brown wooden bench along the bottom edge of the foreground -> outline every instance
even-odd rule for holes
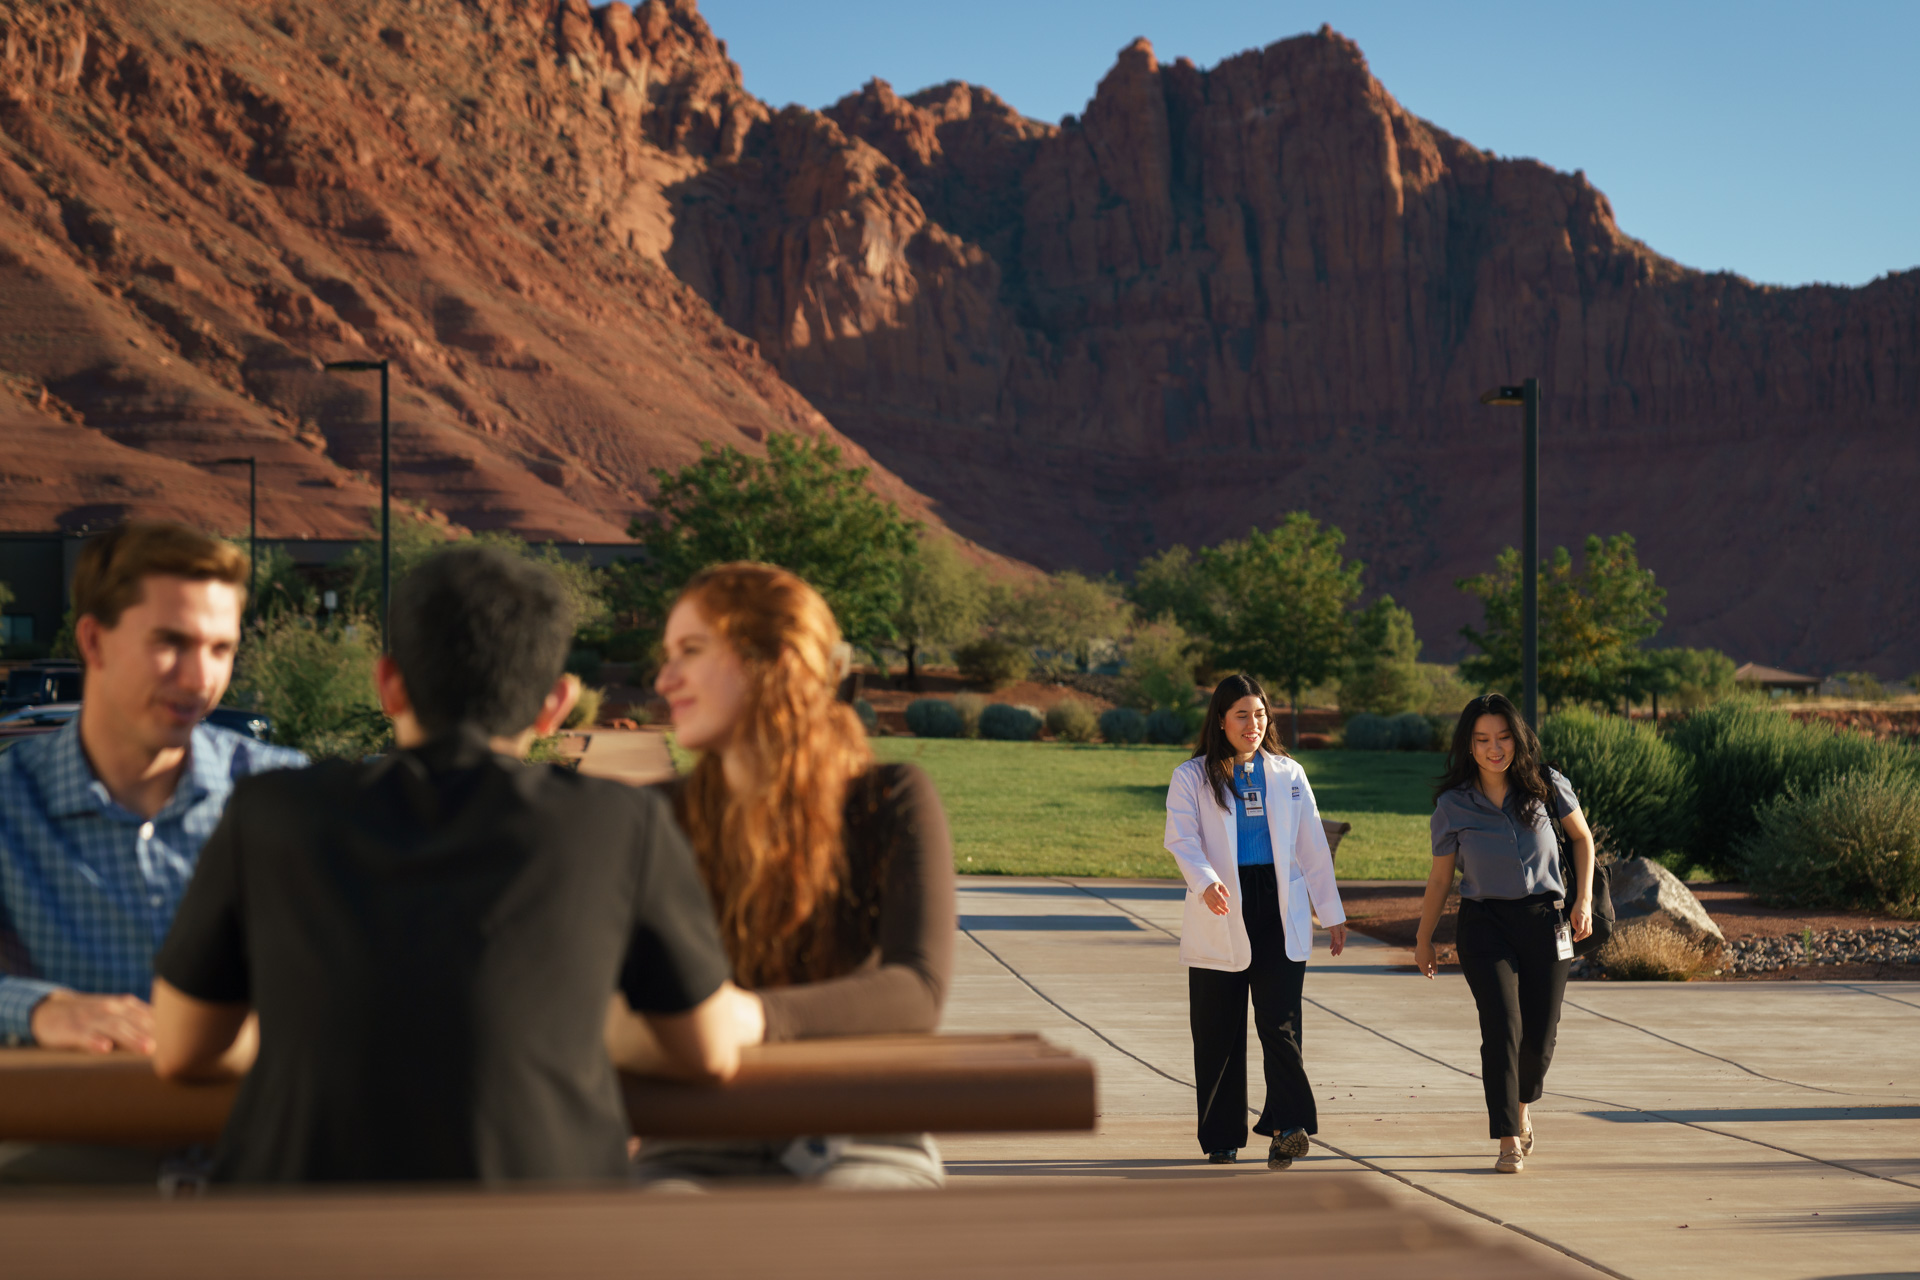
[[[1559,1280],[1590,1274],[1505,1232],[1388,1201],[1377,1174],[1213,1171],[947,1192],[728,1190],[0,1197],[6,1274],[781,1276],[787,1280]],[[1524,1251],[1523,1251],[1524,1249]]]

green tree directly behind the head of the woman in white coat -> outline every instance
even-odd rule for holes
[[[1361,564],[1340,555],[1346,535],[1296,510],[1275,530],[1250,530],[1200,553],[1217,591],[1208,639],[1213,658],[1275,681],[1292,708],[1300,743],[1300,691],[1331,679],[1348,654],[1348,606]]]

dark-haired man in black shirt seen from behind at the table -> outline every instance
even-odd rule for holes
[[[609,1042],[735,1071],[741,996],[666,804],[522,762],[578,697],[572,631],[540,566],[444,551],[394,595],[396,750],[234,789],[154,983],[161,1077],[246,1073],[217,1180],[620,1178]]]

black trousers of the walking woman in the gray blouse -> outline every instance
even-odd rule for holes
[[[1521,1103],[1540,1102],[1571,960],[1553,954],[1555,894],[1463,898],[1459,967],[1480,1007],[1480,1084],[1486,1136],[1519,1138]]]

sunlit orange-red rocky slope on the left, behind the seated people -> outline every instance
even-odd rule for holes
[[[0,0],[0,526],[244,530],[252,453],[265,533],[365,530],[376,376],[330,359],[392,361],[401,497],[532,537],[831,434],[660,261],[766,117],[691,6]]]

